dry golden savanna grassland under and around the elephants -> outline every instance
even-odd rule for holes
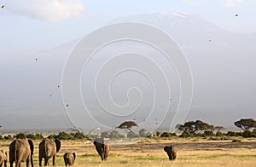
[[[0,147],[8,151],[11,141],[0,141]],[[35,145],[34,164],[38,166],[38,143]],[[163,147],[173,144],[177,149],[177,159],[169,161]],[[102,162],[93,143],[84,140],[61,141],[61,151],[57,153],[56,166],[64,166],[62,155],[77,153],[74,167],[79,166],[256,166],[256,140],[241,142],[207,141],[205,139],[169,140],[145,139],[137,142],[114,144],[107,162]],[[50,164],[52,161],[50,160]],[[8,164],[9,166],[9,164]],[[22,164],[25,166],[25,164]]]

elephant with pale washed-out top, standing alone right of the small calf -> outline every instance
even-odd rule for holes
[[[96,147],[97,153],[99,153],[99,155],[101,156],[102,161],[107,161],[108,153],[110,150],[109,141],[107,139],[104,139],[103,137],[96,137],[93,144]]]

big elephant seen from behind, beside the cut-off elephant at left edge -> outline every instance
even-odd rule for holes
[[[13,167],[15,162],[15,167],[20,166],[21,162],[26,162],[26,167],[33,164],[33,153],[34,144],[32,140],[27,139],[16,139],[9,144],[9,165]]]

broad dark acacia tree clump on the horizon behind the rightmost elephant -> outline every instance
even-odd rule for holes
[[[204,130],[214,130],[214,126],[211,124],[207,124],[202,122],[201,120],[196,120],[196,121],[189,121],[184,124],[177,124],[176,129],[186,132],[188,131],[190,134],[195,135],[196,131],[204,131]]]

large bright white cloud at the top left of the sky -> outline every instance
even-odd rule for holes
[[[6,9],[14,14],[47,21],[78,17],[84,12],[80,0],[12,0],[5,4]]]

